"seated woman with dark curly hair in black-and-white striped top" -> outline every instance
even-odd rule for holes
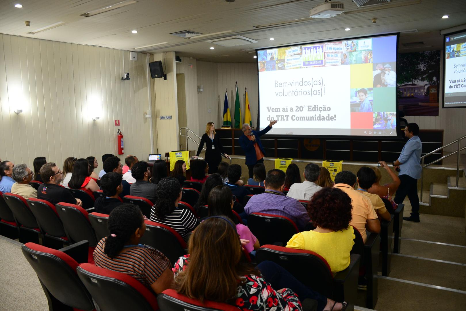
[[[178,208],[182,194],[176,178],[162,178],[157,185],[157,200],[151,209],[151,221],[170,226],[186,240],[188,233],[199,225],[199,221],[189,209]]]

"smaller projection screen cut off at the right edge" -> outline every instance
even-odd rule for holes
[[[466,30],[445,35],[443,108],[466,107]]]

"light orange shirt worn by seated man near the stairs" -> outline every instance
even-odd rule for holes
[[[361,194],[353,189],[353,187],[347,184],[336,184],[333,186],[334,188],[338,188],[344,191],[348,196],[351,198],[351,205],[353,209],[351,210],[351,222],[349,223],[356,229],[358,229],[359,233],[363,236],[364,243],[366,242],[366,222],[367,220],[378,219],[376,211],[374,207],[372,207],[372,203],[370,199],[366,197],[364,194]]]

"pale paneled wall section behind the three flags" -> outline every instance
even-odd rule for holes
[[[240,95],[241,122],[245,115],[245,87],[251,109],[253,127],[257,125],[258,80],[257,68],[254,63],[212,63],[197,62],[198,84],[204,85],[204,91],[199,93],[199,129],[203,131],[207,122],[213,121],[216,127],[223,123],[223,102],[225,88],[228,91],[232,123],[234,122],[235,82],[238,82]],[[211,110],[211,113],[208,110]]]

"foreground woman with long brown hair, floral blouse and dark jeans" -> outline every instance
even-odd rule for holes
[[[234,224],[222,216],[206,219],[191,236],[189,255],[174,265],[175,289],[193,299],[232,304],[240,310],[302,311],[300,300],[306,298],[317,300],[318,311],[345,307],[310,290],[278,264],[264,261],[254,268],[241,255]]]

